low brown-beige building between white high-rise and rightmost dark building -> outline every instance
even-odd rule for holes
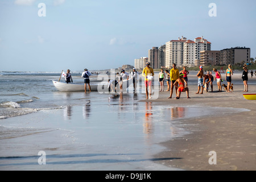
[[[220,52],[221,51],[200,51],[199,65],[220,65]]]

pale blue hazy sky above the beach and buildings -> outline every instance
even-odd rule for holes
[[[255,0],[0,0],[0,71],[134,65],[181,36],[204,36],[214,51],[249,47],[255,58],[255,7]]]

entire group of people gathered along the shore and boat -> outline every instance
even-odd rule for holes
[[[146,67],[142,71],[142,76],[144,78],[144,84],[146,87],[146,98],[151,98],[151,90],[152,90],[152,78],[154,77],[154,70],[150,67],[150,63],[146,64]],[[222,85],[221,82],[222,76],[219,71],[217,71],[216,68],[213,68],[213,72],[215,73],[215,77],[213,78],[212,72],[208,71],[207,74],[204,74],[203,71],[203,66],[199,67],[200,71],[197,73],[198,77],[198,90],[196,94],[203,94],[204,90],[208,92],[209,90],[209,85],[211,88],[210,92],[213,92],[213,81],[217,81],[217,86],[218,86],[218,91],[217,92],[222,92]],[[255,71],[256,72],[256,71]],[[161,69],[158,75],[158,79],[160,82],[160,92],[164,92],[164,81],[167,82],[167,92],[170,92],[170,97],[172,98],[172,94],[174,93],[174,88],[176,91],[176,97],[175,99],[179,99],[181,92],[186,92],[187,93],[187,98],[189,97],[189,89],[188,89],[188,74],[189,71],[187,71],[186,67],[183,67],[183,70],[179,71],[179,69],[176,68],[176,64],[172,64],[172,69],[170,72],[168,70],[164,71]],[[226,86],[226,92],[231,92],[232,88],[232,75],[233,75],[233,69],[232,65],[228,65],[228,69],[226,69],[226,74],[225,74],[225,80],[228,82],[228,85]],[[89,91],[90,90],[90,79],[89,77],[92,76],[92,73],[88,71],[88,69],[84,69],[84,72],[82,72],[82,76],[84,78],[84,85],[85,85],[85,93],[86,93],[86,85],[89,86]],[[119,88],[120,92],[123,90],[123,81],[124,80],[129,80],[129,73],[125,72],[125,70],[122,70],[121,73],[117,73],[116,77],[118,80],[109,80],[109,85],[108,88],[111,88],[112,92],[115,92],[116,86],[119,83]],[[136,84],[137,80],[139,77],[139,73],[136,71],[134,68],[133,71],[131,72],[131,78],[133,79],[133,87],[134,91],[136,90]],[[248,69],[247,65],[243,65],[243,73],[242,73],[242,80],[243,80],[243,85],[245,89],[243,92],[248,92]],[[67,70],[67,73],[65,73],[65,81],[68,83],[73,82],[71,73],[69,69]],[[127,81],[127,87],[129,86],[129,82]]]

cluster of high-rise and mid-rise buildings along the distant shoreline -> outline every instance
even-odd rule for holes
[[[187,40],[181,36],[177,40],[170,40],[160,47],[152,47],[148,50],[148,57],[134,60],[136,69],[143,69],[146,62],[151,63],[153,69],[177,67],[197,67],[199,65],[228,65],[237,63],[249,63],[250,48],[236,47],[212,51],[212,43],[203,36],[194,40]]]

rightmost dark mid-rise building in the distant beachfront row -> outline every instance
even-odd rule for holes
[[[245,47],[235,47],[229,49],[222,49],[220,53],[220,64],[236,64],[240,63],[250,63],[250,48]]]

